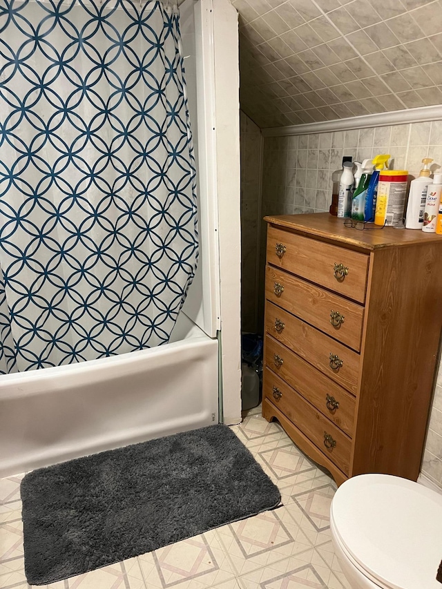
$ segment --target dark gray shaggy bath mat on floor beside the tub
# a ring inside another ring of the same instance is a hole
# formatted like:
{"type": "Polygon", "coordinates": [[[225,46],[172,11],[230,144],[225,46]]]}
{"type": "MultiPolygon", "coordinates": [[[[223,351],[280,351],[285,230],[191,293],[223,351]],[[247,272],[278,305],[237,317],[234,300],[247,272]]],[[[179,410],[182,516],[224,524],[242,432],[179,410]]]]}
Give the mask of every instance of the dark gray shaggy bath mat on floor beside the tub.
{"type": "Polygon", "coordinates": [[[35,470],[21,499],[26,577],[47,585],[275,508],[280,493],[212,425],[35,470]]]}

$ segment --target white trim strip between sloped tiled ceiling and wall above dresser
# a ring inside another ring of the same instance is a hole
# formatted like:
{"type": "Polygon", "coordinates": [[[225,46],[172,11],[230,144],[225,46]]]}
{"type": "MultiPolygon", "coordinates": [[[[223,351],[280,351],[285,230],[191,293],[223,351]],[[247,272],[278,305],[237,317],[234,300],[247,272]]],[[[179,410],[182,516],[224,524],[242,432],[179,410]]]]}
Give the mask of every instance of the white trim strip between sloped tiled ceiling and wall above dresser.
{"type": "Polygon", "coordinates": [[[271,127],[261,129],[261,133],[264,137],[282,137],[286,135],[309,135],[310,133],[329,133],[330,131],[347,131],[348,129],[385,127],[439,120],[442,120],[442,105],[407,108],[407,110],[394,110],[391,113],[378,113],[377,115],[364,115],[362,117],[321,121],[319,123],[271,127]]]}

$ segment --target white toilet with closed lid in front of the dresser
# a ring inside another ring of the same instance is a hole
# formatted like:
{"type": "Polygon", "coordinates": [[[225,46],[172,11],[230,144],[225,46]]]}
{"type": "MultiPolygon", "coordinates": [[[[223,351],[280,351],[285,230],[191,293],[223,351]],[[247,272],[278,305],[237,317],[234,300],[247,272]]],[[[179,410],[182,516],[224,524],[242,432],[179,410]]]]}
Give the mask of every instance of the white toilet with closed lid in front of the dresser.
{"type": "Polygon", "coordinates": [[[398,476],[354,476],[334,495],[330,529],[352,589],[442,589],[442,494],[398,476]]]}

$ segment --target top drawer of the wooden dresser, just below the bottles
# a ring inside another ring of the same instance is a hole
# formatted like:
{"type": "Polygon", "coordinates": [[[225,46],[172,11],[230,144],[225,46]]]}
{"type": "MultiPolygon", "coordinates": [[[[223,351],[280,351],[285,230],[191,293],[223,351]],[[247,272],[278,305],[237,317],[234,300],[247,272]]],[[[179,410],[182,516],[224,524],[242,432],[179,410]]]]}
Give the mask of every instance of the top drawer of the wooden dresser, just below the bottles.
{"type": "Polygon", "coordinates": [[[327,289],[365,301],[369,256],[269,226],[267,262],[327,289]]]}

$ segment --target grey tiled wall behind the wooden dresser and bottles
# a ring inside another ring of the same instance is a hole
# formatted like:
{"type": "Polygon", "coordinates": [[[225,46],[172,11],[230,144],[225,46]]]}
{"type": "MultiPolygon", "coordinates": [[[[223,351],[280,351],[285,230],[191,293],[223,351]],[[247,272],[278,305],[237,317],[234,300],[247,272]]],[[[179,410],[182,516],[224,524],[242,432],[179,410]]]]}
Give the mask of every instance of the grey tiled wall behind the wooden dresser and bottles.
{"type": "MultiPolygon", "coordinates": [[[[432,171],[442,173],[442,121],[334,133],[265,137],[262,171],[262,215],[328,211],[332,199],[331,175],[343,155],[361,162],[378,153],[390,153],[396,170],[416,177],[423,157],[432,157],[432,171]]],[[[260,238],[258,329],[264,316],[265,233],[260,238]]],[[[442,269],[441,269],[442,271],[442,269]]],[[[442,293],[441,293],[442,305],[442,293]]],[[[421,472],[442,488],[442,362],[434,392],[432,413],[421,472]]]]}

